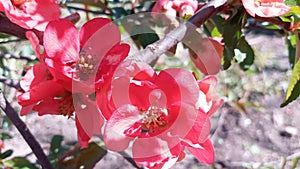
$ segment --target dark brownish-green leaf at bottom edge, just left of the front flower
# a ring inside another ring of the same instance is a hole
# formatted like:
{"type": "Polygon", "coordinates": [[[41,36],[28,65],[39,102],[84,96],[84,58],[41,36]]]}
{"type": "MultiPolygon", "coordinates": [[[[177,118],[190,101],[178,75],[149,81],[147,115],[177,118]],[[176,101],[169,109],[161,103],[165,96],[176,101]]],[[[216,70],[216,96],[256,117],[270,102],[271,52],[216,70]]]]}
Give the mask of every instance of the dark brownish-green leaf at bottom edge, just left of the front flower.
{"type": "Polygon", "coordinates": [[[77,159],[76,168],[93,168],[106,153],[107,151],[105,149],[92,142],[88,148],[81,150],[77,159]]]}

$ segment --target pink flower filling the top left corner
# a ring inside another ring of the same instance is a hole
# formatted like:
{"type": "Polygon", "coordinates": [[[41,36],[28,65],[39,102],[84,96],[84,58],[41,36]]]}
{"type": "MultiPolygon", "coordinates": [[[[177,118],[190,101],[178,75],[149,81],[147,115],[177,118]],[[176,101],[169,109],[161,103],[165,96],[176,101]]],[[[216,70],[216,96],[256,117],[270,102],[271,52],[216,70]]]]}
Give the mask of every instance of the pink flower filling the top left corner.
{"type": "Polygon", "coordinates": [[[60,15],[55,0],[1,0],[0,11],[19,26],[40,31],[44,31],[48,22],[60,15]]]}

